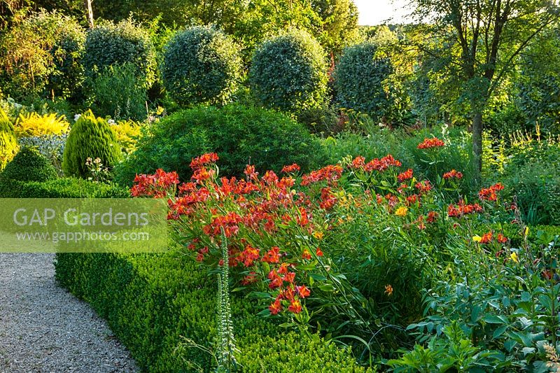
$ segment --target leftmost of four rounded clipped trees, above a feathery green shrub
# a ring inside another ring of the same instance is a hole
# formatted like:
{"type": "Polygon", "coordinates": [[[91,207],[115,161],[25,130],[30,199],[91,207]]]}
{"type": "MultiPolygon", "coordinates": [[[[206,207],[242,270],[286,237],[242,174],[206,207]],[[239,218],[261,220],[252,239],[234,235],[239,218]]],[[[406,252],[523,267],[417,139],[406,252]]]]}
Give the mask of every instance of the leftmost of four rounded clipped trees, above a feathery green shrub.
{"type": "Polygon", "coordinates": [[[155,52],[147,31],[129,19],[104,22],[87,32],[82,60],[87,76],[94,78],[108,66],[127,62],[137,67],[146,87],[153,83],[155,52]]]}

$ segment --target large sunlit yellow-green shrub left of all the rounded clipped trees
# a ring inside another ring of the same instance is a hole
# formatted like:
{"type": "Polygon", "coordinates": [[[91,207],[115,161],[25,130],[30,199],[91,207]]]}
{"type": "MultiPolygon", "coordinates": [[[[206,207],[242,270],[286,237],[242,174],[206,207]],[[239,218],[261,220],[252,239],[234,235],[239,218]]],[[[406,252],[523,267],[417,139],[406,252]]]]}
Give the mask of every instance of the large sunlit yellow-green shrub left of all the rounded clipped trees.
{"type": "Polygon", "coordinates": [[[8,80],[3,91],[17,99],[70,97],[83,82],[84,41],[85,32],[73,18],[32,13],[1,38],[0,71],[8,80]]]}

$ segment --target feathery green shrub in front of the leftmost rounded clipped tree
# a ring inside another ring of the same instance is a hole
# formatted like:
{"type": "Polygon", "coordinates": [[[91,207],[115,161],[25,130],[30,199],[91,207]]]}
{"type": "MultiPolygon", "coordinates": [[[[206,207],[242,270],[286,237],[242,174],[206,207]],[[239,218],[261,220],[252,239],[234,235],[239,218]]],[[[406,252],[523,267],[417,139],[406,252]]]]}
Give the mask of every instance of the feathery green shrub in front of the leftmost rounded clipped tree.
{"type": "Polygon", "coordinates": [[[95,113],[116,119],[144,120],[146,88],[137,79],[137,68],[130,62],[111,65],[90,82],[91,108],[95,113]]]}

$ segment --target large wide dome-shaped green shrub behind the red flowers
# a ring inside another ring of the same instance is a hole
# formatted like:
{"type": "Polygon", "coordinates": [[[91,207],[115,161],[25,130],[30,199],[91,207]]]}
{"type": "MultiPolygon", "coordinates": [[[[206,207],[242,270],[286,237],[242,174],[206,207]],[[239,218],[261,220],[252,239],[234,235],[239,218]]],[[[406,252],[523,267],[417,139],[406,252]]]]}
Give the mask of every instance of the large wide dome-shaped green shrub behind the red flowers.
{"type": "Polygon", "coordinates": [[[188,180],[190,160],[211,151],[220,156],[223,175],[243,176],[249,163],[260,171],[280,171],[293,162],[309,170],[321,159],[318,140],[286,115],[237,104],[197,107],[152,125],[137,150],[116,168],[116,180],[130,185],[135,174],[158,168],[188,180]]]}

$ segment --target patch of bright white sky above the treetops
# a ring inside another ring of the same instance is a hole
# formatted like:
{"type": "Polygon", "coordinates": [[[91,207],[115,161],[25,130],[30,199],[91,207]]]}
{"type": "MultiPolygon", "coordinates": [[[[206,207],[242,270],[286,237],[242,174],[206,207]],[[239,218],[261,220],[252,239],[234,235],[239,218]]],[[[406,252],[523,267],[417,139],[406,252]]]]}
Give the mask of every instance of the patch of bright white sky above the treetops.
{"type": "Polygon", "coordinates": [[[408,0],[354,0],[360,13],[358,24],[381,24],[391,17],[393,23],[404,22],[405,15],[410,13],[404,8],[408,2],[408,0]]]}

